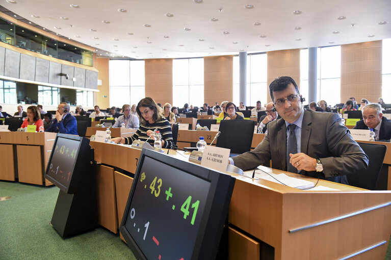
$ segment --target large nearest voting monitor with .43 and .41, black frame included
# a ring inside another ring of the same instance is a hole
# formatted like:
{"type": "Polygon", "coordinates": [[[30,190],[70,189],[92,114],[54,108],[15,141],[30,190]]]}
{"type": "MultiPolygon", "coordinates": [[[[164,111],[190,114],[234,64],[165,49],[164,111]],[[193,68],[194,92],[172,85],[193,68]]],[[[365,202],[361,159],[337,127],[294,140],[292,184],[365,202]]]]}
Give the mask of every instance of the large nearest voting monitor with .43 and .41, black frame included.
{"type": "MultiPolygon", "coordinates": [[[[125,230],[122,235],[127,243],[128,241],[132,243],[129,247],[136,249],[132,250],[136,257],[199,259],[202,241],[207,237],[208,232],[214,235],[206,239],[216,237],[217,233],[217,230],[205,230],[207,222],[210,221],[210,214],[215,210],[218,211],[216,214],[220,213],[219,220],[215,218],[212,220],[216,222],[212,229],[218,229],[220,222],[226,218],[229,203],[226,204],[225,215],[224,210],[220,209],[221,206],[212,209],[214,194],[218,192],[216,189],[218,178],[209,180],[208,174],[203,177],[195,175],[193,171],[197,172],[197,169],[201,168],[199,165],[180,161],[187,167],[180,165],[178,167],[177,159],[173,161],[174,164],[171,164],[164,158],[157,160],[155,157],[163,156],[173,160],[172,157],[154,151],[148,153],[152,153],[153,157],[144,155],[140,158],[140,165],[121,223],[125,230]],[[220,218],[223,220],[221,221],[220,218]],[[136,251],[140,255],[137,255],[136,251]]],[[[220,175],[218,172],[214,173],[216,177],[220,175]]],[[[233,179],[230,176],[224,177],[228,180],[226,182],[228,186],[234,182],[234,180],[230,182],[233,179]]],[[[233,184],[231,186],[233,188],[233,184]]],[[[232,190],[223,193],[227,193],[230,199],[232,190]]],[[[223,197],[226,197],[226,194],[223,197]]],[[[224,198],[220,202],[224,205],[224,198]]],[[[220,236],[221,233],[219,239],[220,236]]],[[[213,242],[208,242],[211,243],[213,242]]],[[[211,254],[214,253],[210,252],[207,255],[211,254]]]]}

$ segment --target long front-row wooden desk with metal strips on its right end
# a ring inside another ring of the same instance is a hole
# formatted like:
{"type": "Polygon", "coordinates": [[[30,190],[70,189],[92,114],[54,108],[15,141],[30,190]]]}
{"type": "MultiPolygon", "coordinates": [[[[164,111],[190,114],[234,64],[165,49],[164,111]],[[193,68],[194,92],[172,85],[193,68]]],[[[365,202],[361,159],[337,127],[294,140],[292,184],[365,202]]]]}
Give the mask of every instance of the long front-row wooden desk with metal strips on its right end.
{"type": "MultiPolygon", "coordinates": [[[[97,162],[99,224],[118,233],[141,150],[90,144],[97,162]]],[[[164,151],[188,161],[188,152],[164,151]]],[[[263,170],[317,182],[268,167],[263,170]]],[[[391,191],[324,180],[319,180],[319,190],[300,190],[260,179],[258,174],[252,179],[252,171],[225,174],[236,178],[228,212],[229,259],[335,259],[361,250],[357,259],[384,258],[391,234],[391,191]]]]}

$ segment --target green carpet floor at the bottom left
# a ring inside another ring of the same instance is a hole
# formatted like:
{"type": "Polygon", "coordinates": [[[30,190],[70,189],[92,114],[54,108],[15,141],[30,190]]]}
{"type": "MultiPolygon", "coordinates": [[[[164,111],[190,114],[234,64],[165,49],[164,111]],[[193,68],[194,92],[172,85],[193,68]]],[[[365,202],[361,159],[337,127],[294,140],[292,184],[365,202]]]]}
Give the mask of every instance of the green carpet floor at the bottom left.
{"type": "MultiPolygon", "coordinates": [[[[119,238],[105,228],[61,238],[49,224],[59,193],[57,187],[38,187],[0,181],[0,259],[136,259],[119,238]]],[[[391,240],[386,260],[391,260],[391,240]]]]}

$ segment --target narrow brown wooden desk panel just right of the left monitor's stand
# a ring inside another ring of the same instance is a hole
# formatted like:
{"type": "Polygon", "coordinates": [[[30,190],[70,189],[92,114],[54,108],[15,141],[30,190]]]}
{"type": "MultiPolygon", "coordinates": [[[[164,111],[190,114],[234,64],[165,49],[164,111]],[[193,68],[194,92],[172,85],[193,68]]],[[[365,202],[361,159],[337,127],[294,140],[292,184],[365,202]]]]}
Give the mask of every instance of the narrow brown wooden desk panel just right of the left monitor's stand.
{"type": "Polygon", "coordinates": [[[118,218],[114,168],[105,165],[96,166],[96,197],[98,204],[98,224],[117,234],[118,218]]]}

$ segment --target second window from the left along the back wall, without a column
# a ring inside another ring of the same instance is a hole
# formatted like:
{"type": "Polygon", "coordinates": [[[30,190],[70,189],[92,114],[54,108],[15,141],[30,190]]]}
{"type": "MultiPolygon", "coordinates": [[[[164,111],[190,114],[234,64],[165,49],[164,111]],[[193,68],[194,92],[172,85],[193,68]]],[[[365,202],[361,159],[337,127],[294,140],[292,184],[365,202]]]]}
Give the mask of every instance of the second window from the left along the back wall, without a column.
{"type": "Polygon", "coordinates": [[[202,107],[203,96],[203,58],[176,59],[172,61],[172,105],[183,107],[202,107]]]}

